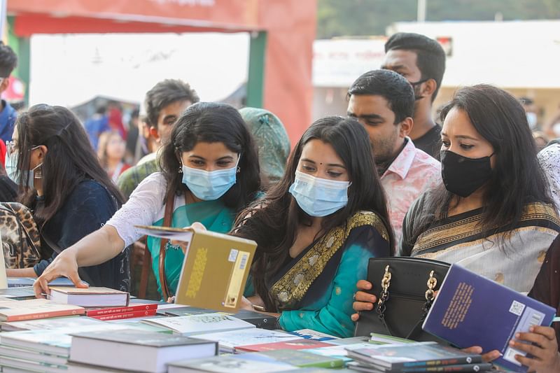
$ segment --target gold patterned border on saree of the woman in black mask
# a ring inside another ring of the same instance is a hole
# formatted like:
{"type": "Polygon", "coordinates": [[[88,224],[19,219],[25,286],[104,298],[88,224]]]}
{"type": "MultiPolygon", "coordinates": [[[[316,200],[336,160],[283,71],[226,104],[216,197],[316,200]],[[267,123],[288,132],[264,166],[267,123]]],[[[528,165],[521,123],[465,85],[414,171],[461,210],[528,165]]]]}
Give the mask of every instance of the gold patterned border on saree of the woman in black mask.
{"type": "MultiPolygon", "coordinates": [[[[452,242],[461,241],[468,237],[475,237],[482,233],[482,227],[479,222],[482,214],[470,216],[468,218],[458,220],[454,223],[441,225],[432,228],[422,233],[416,240],[414,248],[412,248],[412,255],[430,250],[437,246],[451,244],[452,242]]],[[[525,212],[519,223],[528,222],[530,220],[548,220],[555,225],[560,226],[560,220],[556,216],[556,211],[552,206],[542,203],[531,203],[525,206],[525,212]]],[[[495,226],[492,230],[497,229],[495,226]]],[[[472,242],[472,241],[471,241],[472,242]]],[[[461,242],[460,244],[465,244],[461,242]]],[[[457,244],[457,245],[460,245],[457,244]]],[[[420,255],[426,255],[424,253],[420,255]]]]}

